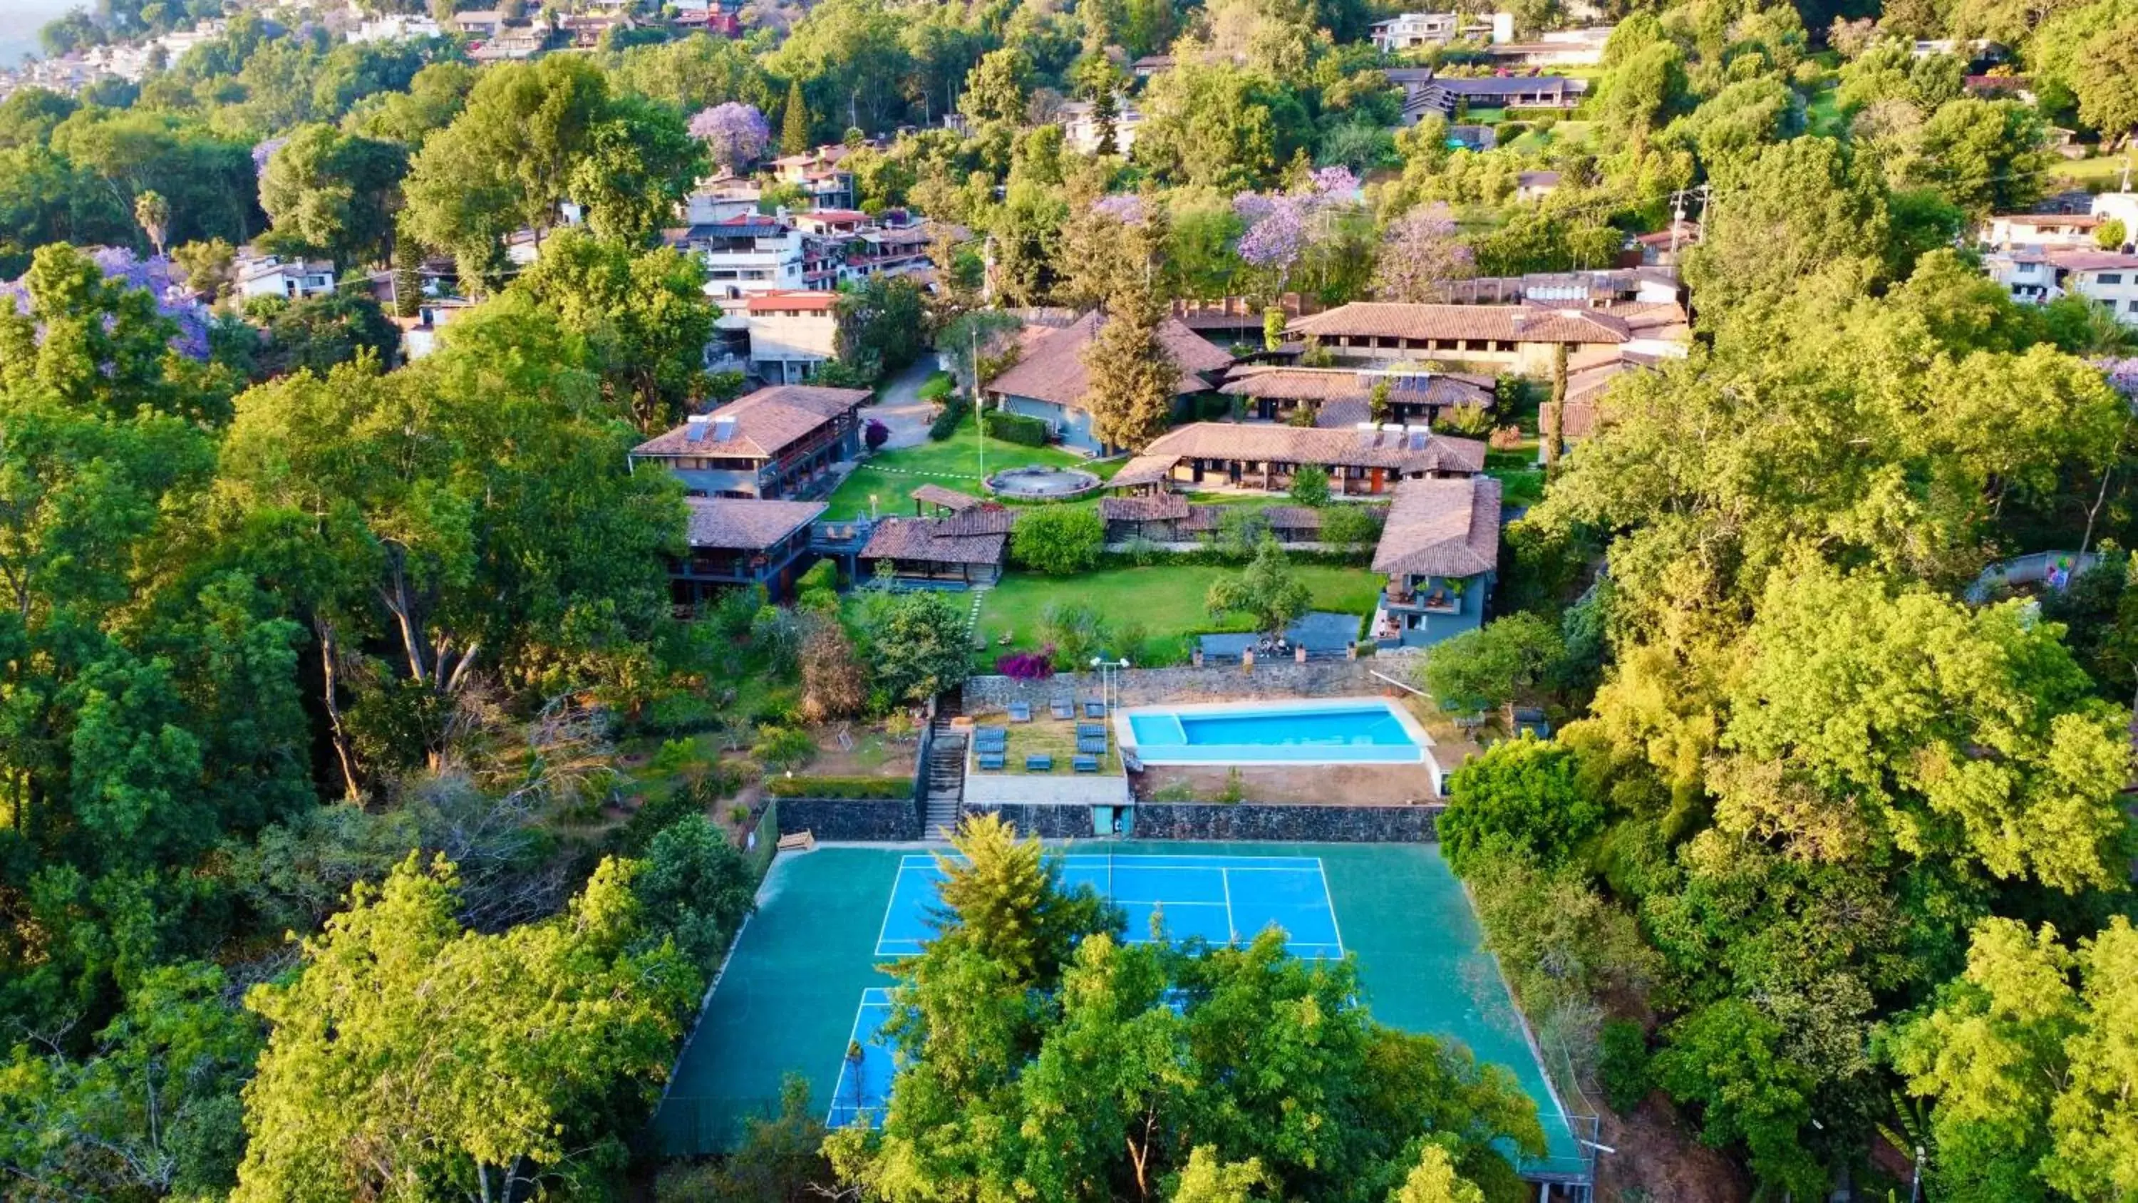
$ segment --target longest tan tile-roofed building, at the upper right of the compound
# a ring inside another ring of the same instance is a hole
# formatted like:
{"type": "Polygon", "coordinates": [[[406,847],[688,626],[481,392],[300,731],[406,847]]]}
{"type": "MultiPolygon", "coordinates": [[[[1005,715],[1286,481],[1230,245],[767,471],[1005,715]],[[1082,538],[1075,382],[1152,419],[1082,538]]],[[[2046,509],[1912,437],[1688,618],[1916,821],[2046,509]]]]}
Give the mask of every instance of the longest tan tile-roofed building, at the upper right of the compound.
{"type": "MultiPolygon", "coordinates": [[[[1541,376],[1561,346],[1618,346],[1640,340],[1633,321],[1685,323],[1685,310],[1621,306],[1614,310],[1552,306],[1420,306],[1351,301],[1291,323],[1287,338],[1319,340],[1336,359],[1364,365],[1417,361],[1471,363],[1541,376]]],[[[1655,331],[1670,338],[1676,327],[1655,331]]]]}

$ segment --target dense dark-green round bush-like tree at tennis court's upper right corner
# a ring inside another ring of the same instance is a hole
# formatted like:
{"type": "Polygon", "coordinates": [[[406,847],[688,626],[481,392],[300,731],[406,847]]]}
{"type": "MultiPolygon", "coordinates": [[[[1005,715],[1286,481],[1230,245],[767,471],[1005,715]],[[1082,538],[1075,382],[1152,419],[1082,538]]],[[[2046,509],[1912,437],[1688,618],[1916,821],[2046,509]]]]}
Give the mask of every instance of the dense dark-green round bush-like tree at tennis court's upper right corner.
{"type": "Polygon", "coordinates": [[[1486,855],[1520,855],[1550,870],[1604,827],[1604,808],[1576,782],[1574,752],[1541,739],[1494,744],[1456,769],[1439,821],[1447,865],[1469,876],[1486,855]]]}

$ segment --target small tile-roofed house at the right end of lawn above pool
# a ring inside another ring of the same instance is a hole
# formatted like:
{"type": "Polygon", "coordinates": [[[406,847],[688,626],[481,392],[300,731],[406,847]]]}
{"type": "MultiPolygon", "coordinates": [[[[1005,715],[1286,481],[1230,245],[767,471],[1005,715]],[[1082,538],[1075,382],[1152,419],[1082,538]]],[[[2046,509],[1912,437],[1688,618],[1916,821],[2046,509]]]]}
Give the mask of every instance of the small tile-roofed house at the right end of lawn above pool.
{"type": "Polygon", "coordinates": [[[1383,647],[1426,647],[1484,622],[1499,573],[1499,481],[1405,481],[1373,571],[1388,588],[1373,613],[1383,647]]]}

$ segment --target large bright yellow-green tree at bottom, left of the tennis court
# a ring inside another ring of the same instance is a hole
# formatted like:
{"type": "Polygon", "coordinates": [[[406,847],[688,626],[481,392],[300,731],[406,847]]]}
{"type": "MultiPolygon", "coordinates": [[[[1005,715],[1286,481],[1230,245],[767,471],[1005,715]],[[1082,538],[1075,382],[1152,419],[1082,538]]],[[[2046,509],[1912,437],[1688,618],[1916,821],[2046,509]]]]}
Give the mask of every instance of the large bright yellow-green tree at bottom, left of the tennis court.
{"type": "Polygon", "coordinates": [[[601,1115],[648,1107],[701,979],[631,951],[633,865],[603,861],[567,915],[498,936],[453,917],[458,874],[410,855],[304,942],[246,1006],[269,1024],[246,1088],[235,1201],[590,1182],[624,1156],[601,1115]]]}

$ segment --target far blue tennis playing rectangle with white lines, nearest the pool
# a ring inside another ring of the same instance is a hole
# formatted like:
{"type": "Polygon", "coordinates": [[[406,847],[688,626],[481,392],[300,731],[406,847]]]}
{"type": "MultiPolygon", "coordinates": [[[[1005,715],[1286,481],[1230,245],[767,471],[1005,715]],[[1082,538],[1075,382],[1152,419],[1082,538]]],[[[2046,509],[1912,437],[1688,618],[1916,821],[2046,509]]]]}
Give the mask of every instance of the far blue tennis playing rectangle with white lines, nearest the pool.
{"type": "MultiPolygon", "coordinates": [[[[934,936],[930,915],[943,870],[932,855],[898,863],[898,882],[877,934],[879,957],[919,955],[934,936]]],[[[1063,882],[1088,885],[1129,915],[1127,940],[1204,938],[1246,942],[1268,927],[1304,959],[1341,957],[1343,934],[1330,906],[1321,857],[1063,857],[1063,882]]]]}

